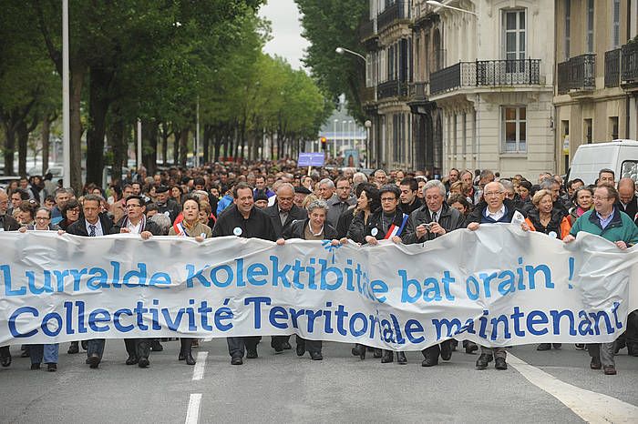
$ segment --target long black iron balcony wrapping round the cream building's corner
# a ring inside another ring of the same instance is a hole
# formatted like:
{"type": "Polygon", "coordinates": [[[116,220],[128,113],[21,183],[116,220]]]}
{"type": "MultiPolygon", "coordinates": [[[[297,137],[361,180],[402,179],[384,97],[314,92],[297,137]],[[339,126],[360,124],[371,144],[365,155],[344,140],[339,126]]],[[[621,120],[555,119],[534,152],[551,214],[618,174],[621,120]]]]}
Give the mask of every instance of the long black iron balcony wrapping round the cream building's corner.
{"type": "Polygon", "coordinates": [[[430,76],[430,95],[461,87],[538,86],[540,59],[477,60],[459,62],[430,76]]]}

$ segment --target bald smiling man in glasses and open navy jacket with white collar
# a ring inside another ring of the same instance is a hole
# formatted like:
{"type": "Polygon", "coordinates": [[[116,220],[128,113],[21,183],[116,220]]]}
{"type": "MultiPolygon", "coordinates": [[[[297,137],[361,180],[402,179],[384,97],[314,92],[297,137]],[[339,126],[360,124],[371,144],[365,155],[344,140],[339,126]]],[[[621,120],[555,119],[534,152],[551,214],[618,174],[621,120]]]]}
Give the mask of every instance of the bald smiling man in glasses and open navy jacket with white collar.
{"type": "MultiPolygon", "coordinates": [[[[483,199],[468,216],[466,226],[472,231],[476,231],[483,224],[498,224],[511,222],[516,207],[514,202],[505,198],[505,187],[499,182],[488,183],[483,189],[483,199]]],[[[489,362],[493,358],[494,368],[507,369],[505,362],[507,353],[505,348],[485,348],[480,347],[480,356],[477,359],[477,369],[488,368],[489,362]]]]}

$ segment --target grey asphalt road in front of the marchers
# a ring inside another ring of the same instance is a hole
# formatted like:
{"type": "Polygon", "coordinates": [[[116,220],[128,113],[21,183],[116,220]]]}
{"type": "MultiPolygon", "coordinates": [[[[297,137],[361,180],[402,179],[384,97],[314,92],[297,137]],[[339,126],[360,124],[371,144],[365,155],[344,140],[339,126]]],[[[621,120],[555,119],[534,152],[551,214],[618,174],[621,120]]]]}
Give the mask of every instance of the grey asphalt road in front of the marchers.
{"type": "Polygon", "coordinates": [[[177,360],[178,342],[163,345],[141,369],[124,364],[123,341],[108,340],[94,370],[65,343],[56,373],[30,370],[13,347],[13,364],[0,369],[0,422],[638,422],[638,358],[626,350],[616,357],[619,374],[604,376],[573,345],[508,349],[504,371],[493,362],[478,371],[477,355],[462,351],[433,368],[421,367],[417,352],[406,366],[362,361],[337,343],[312,361],[274,355],[269,338],[243,366],[230,365],[224,339],[203,342],[190,367],[177,360]]]}

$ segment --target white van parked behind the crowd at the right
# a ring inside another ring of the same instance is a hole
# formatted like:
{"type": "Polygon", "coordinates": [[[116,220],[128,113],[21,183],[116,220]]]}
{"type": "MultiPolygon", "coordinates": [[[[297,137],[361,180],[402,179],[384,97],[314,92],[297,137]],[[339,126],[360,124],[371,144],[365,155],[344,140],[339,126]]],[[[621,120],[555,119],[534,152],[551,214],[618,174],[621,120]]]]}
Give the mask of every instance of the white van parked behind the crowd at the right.
{"type": "Polygon", "coordinates": [[[638,141],[613,140],[579,146],[571,160],[567,181],[581,178],[586,185],[594,184],[602,168],[612,169],[616,181],[623,177],[638,180],[638,141]]]}

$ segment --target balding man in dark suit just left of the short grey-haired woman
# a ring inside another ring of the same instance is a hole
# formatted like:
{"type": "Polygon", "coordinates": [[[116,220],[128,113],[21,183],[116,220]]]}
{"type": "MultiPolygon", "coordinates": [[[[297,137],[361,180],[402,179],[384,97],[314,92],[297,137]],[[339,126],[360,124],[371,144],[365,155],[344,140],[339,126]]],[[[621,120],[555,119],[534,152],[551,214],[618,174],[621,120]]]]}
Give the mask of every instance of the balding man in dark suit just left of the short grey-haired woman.
{"type": "MultiPolygon", "coordinates": [[[[276,202],[272,207],[266,207],[264,212],[273,221],[274,232],[277,237],[283,237],[283,232],[289,230],[294,221],[304,221],[308,217],[305,209],[297,207],[294,200],[294,187],[290,183],[283,183],[277,188],[276,202]]],[[[290,336],[273,336],[271,348],[281,353],[283,349],[290,349],[290,336]]]]}

